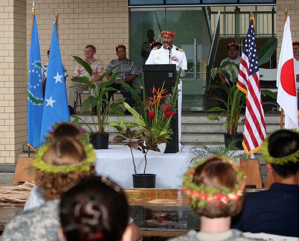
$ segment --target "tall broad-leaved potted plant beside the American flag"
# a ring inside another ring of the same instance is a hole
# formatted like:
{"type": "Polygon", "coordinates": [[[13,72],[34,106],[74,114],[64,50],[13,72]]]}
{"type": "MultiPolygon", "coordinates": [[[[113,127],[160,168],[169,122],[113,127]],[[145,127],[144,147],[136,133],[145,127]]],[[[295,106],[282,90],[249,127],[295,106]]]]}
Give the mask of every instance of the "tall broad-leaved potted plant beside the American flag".
{"type": "MultiPolygon", "coordinates": [[[[269,61],[272,54],[275,52],[277,48],[277,39],[270,39],[268,42],[266,42],[263,47],[257,52],[258,56],[258,64],[262,65],[269,61]]],[[[242,148],[242,139],[243,135],[242,133],[237,132],[238,125],[245,121],[245,119],[240,120],[240,113],[241,109],[245,107],[245,93],[243,93],[241,90],[237,88],[237,79],[238,75],[234,70],[233,65],[237,66],[239,69],[239,65],[228,61],[223,62],[222,66],[213,68],[211,70],[211,76],[213,79],[215,79],[218,72],[221,72],[226,79],[230,79],[232,76],[233,80],[233,86],[231,88],[227,87],[226,85],[219,82],[217,85],[206,85],[203,88],[222,88],[225,90],[225,92],[228,93],[228,100],[225,102],[222,99],[213,98],[222,101],[225,104],[225,107],[227,108],[222,109],[220,107],[213,107],[210,108],[208,111],[221,111],[221,117],[219,118],[216,115],[209,115],[207,116],[210,120],[217,120],[221,121],[223,119],[222,124],[227,129],[227,134],[224,134],[224,142],[225,145],[228,145],[228,140],[232,139],[240,139],[239,144],[236,144],[239,146],[239,148],[242,148]],[[227,66],[229,67],[230,73],[223,70],[222,68],[227,66]]],[[[270,90],[261,90],[261,94],[264,96],[268,95],[272,97],[273,99],[277,99],[277,95],[273,93],[270,90]]]]}

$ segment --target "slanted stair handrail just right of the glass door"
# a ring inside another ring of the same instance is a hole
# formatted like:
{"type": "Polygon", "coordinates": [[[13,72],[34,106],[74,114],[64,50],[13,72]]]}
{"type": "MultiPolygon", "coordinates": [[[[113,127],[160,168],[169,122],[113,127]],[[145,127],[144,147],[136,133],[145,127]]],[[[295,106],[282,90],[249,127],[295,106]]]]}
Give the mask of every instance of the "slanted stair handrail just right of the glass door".
{"type": "MultiPolygon", "coordinates": [[[[208,85],[210,83],[211,70],[214,66],[216,51],[217,51],[218,42],[219,42],[219,39],[220,39],[219,19],[220,19],[220,12],[218,12],[218,17],[217,17],[217,20],[216,20],[216,23],[215,23],[215,30],[214,30],[212,44],[211,44],[210,53],[209,53],[208,62],[207,62],[206,85],[208,85]]],[[[206,90],[206,100],[208,100],[208,90],[206,90]]]]}

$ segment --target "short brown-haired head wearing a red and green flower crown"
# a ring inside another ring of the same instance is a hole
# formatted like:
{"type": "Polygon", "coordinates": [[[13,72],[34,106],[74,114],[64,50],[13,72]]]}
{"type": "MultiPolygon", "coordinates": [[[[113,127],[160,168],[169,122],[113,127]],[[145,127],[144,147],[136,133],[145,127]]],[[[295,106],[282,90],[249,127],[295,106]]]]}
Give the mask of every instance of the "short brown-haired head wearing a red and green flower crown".
{"type": "Polygon", "coordinates": [[[208,218],[231,217],[242,209],[245,178],[235,160],[212,157],[189,168],[182,190],[196,214],[208,218]]]}

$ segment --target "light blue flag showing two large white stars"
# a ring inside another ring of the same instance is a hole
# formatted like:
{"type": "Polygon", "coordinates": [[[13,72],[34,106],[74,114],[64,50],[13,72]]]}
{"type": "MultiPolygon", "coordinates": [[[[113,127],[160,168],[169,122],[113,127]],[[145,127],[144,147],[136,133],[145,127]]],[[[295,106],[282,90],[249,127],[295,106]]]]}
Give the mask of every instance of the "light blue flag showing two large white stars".
{"type": "Polygon", "coordinates": [[[55,125],[56,122],[65,122],[70,119],[55,22],[53,24],[50,49],[40,142],[45,141],[45,136],[51,130],[52,125],[55,125]]]}

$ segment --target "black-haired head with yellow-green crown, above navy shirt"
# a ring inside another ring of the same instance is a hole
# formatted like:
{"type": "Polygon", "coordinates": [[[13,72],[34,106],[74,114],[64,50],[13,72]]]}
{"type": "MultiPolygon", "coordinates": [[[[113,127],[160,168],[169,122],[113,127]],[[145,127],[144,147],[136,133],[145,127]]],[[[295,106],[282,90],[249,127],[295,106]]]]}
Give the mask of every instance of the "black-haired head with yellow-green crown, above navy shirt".
{"type": "Polygon", "coordinates": [[[272,133],[263,143],[263,156],[274,171],[287,178],[299,169],[299,134],[292,130],[279,130],[272,133]]]}

